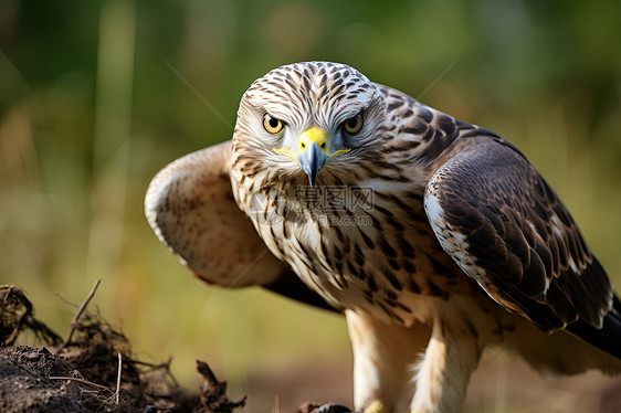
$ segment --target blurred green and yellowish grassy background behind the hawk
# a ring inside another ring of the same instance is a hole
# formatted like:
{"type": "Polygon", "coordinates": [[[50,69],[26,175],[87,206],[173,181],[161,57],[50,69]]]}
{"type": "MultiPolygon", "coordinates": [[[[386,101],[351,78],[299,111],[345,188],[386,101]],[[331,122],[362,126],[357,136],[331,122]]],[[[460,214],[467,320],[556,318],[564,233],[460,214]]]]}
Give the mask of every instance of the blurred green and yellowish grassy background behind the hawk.
{"type": "Polygon", "coordinates": [[[66,331],[54,294],[102,278],[95,303],[135,350],[173,356],[188,385],[207,360],[251,411],[278,405],[252,393],[266,371],[348,378],[339,317],[200,284],[143,214],[161,167],[231,137],[253,80],[328,60],[517,145],[621,285],[620,22],[614,0],[0,0],[0,283],[66,331]]]}

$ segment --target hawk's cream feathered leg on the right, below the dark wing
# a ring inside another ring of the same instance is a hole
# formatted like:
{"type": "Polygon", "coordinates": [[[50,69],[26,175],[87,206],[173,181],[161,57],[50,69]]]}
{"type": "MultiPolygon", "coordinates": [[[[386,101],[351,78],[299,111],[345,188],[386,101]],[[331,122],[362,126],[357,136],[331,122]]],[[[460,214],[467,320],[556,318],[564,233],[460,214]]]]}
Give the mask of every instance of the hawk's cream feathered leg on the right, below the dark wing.
{"type": "Polygon", "coordinates": [[[467,320],[435,319],[415,375],[412,413],[454,413],[460,410],[470,375],[481,358],[476,336],[467,320]]]}

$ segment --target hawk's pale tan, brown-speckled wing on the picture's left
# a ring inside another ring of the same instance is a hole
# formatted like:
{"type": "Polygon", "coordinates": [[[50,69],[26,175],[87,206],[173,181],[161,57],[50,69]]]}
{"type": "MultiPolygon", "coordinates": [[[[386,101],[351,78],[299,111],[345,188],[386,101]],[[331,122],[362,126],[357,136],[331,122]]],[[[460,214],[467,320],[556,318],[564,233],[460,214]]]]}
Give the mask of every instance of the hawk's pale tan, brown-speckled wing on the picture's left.
{"type": "Polygon", "coordinates": [[[186,155],[159,171],[145,199],[158,239],[197,277],[222,287],[260,285],[331,309],[267,250],[233,199],[231,141],[186,155]]]}

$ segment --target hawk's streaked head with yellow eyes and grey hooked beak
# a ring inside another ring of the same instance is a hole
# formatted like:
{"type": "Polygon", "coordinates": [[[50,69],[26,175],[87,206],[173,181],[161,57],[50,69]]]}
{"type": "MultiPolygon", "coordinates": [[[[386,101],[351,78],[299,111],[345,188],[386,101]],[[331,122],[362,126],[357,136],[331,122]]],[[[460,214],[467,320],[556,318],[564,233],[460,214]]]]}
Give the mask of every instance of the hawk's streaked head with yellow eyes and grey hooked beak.
{"type": "Polygon", "coordinates": [[[328,62],[275,68],[244,93],[233,137],[235,166],[250,174],[347,173],[383,127],[386,100],[355,68],[328,62]]]}

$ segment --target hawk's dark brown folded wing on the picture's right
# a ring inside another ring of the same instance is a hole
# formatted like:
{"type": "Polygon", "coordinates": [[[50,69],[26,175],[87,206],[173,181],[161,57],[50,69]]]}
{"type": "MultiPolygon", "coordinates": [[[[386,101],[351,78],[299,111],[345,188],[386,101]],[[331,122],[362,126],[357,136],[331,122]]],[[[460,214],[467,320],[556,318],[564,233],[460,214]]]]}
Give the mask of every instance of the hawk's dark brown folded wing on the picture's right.
{"type": "Polygon", "coordinates": [[[613,336],[620,347],[612,285],[544,178],[495,136],[455,145],[425,190],[444,250],[492,298],[539,328],[567,327],[596,345],[613,336]]]}

